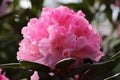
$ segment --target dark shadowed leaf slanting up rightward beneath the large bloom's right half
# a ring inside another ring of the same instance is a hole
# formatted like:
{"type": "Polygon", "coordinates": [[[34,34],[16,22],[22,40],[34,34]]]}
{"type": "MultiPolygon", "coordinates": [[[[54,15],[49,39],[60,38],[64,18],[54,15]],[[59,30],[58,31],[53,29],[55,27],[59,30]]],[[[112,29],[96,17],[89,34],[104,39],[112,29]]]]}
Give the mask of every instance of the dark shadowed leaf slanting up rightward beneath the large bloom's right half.
{"type": "Polygon", "coordinates": [[[85,72],[86,70],[88,70],[90,68],[90,66],[91,66],[91,64],[86,63],[86,64],[81,65],[78,68],[74,68],[68,73],[67,77],[73,77],[75,74],[81,74],[81,73],[85,72]]]}

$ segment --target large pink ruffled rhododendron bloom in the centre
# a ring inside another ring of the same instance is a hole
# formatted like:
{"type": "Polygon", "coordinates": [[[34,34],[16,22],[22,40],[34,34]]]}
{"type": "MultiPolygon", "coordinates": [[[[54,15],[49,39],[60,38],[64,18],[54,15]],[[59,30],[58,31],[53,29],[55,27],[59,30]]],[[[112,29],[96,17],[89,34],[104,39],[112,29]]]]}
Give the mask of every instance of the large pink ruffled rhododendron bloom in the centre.
{"type": "Polygon", "coordinates": [[[99,61],[104,55],[100,51],[99,34],[85,19],[67,7],[43,8],[39,19],[32,18],[22,29],[17,59],[38,62],[54,68],[61,59],[74,57],[99,61]]]}

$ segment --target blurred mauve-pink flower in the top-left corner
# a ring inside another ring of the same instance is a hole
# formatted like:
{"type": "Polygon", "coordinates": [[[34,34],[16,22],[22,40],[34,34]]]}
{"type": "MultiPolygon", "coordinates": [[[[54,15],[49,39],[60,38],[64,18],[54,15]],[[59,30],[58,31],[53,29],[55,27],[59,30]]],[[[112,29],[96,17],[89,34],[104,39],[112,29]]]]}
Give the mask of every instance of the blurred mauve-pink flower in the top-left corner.
{"type": "Polygon", "coordinates": [[[7,13],[7,6],[8,6],[8,2],[10,0],[2,0],[2,3],[0,4],[0,17],[5,15],[7,13]]]}

